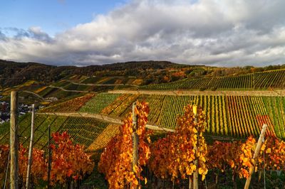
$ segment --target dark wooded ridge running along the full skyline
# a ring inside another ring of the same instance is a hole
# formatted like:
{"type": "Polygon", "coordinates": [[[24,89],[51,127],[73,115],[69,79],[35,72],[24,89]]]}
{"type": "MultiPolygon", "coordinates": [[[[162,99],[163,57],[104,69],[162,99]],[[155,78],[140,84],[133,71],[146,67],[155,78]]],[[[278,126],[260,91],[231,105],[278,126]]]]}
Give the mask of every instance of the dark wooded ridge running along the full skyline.
{"type": "MultiPolygon", "coordinates": [[[[204,65],[180,65],[167,61],[138,61],[113,63],[108,65],[52,66],[41,63],[16,63],[0,60],[0,90],[1,87],[14,87],[28,80],[35,80],[44,85],[50,85],[66,78],[82,77],[134,77],[142,80],[140,85],[175,82],[183,79],[208,79],[209,77],[224,77],[246,75],[253,72],[284,69],[285,65],[270,65],[265,68],[216,68],[204,65]],[[76,75],[76,77],[74,77],[76,75]]],[[[86,80],[85,83],[93,82],[86,80]]]]}

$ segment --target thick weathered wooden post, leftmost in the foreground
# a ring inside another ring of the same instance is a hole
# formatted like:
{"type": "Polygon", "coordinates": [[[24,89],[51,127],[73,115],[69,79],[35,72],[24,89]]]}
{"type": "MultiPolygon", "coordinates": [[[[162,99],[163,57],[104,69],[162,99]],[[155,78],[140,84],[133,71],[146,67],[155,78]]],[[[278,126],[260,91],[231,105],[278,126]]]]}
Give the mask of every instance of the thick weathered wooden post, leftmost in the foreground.
{"type": "Polygon", "coordinates": [[[11,92],[10,112],[10,188],[19,188],[19,136],[18,136],[18,92],[11,92]]]}

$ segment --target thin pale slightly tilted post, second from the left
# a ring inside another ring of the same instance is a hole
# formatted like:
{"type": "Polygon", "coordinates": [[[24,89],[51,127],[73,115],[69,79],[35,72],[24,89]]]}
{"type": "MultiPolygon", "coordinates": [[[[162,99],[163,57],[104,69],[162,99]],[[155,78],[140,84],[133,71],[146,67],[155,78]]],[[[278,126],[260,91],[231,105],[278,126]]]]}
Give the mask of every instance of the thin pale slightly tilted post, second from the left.
{"type": "Polygon", "coordinates": [[[28,148],[28,168],[27,168],[27,177],[26,177],[26,189],[29,188],[30,185],[30,178],[31,178],[31,165],[32,165],[32,159],[33,159],[33,133],[35,131],[34,129],[34,122],[35,120],[35,104],[31,105],[31,141],[30,141],[30,147],[28,148]]]}

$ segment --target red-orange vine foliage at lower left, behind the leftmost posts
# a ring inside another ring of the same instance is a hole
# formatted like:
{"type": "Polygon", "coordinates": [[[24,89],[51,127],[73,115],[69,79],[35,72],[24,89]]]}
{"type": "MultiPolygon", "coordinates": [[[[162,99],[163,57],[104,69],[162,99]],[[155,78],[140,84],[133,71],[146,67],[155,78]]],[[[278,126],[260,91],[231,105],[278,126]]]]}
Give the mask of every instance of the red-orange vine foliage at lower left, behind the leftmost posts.
{"type": "MultiPolygon", "coordinates": [[[[91,173],[94,168],[90,156],[84,152],[83,146],[73,144],[66,132],[53,135],[51,163],[51,185],[66,185],[71,180],[82,180],[83,176],[91,173]]],[[[0,146],[0,184],[4,184],[4,176],[8,162],[9,146],[0,146]]],[[[39,180],[48,180],[48,161],[44,151],[33,148],[31,166],[31,182],[37,184],[39,180]]],[[[28,167],[28,148],[20,144],[19,148],[19,185],[26,184],[28,167]]]]}

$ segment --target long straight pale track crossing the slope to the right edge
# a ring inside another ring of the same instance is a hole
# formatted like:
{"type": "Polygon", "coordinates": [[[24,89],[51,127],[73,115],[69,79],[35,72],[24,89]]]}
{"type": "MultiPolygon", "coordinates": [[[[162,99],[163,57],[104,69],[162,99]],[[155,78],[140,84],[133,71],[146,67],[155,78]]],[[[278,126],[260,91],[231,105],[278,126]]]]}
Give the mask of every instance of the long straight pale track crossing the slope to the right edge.
{"type": "Polygon", "coordinates": [[[285,97],[285,90],[259,90],[259,91],[152,91],[152,90],[111,90],[109,93],[127,93],[139,95],[227,95],[227,96],[268,96],[285,97]]]}

